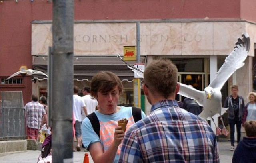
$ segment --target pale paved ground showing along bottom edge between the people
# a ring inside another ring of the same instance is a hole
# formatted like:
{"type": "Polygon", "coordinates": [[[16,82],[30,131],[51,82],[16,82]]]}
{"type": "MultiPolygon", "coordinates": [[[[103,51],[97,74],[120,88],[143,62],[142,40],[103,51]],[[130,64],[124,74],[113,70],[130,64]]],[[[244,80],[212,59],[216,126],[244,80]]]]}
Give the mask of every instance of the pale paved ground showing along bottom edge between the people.
{"type": "MultiPolygon", "coordinates": [[[[220,163],[232,163],[233,152],[229,151],[230,142],[224,141],[219,142],[219,154],[220,154],[220,163]]],[[[84,160],[84,151],[74,152],[73,153],[73,162],[82,163],[84,160]]],[[[0,163],[36,163],[40,151],[24,151],[19,153],[7,153],[0,155],[0,163]]],[[[89,154],[89,153],[88,153],[89,154]]],[[[92,158],[89,154],[90,163],[93,163],[92,158]]]]}

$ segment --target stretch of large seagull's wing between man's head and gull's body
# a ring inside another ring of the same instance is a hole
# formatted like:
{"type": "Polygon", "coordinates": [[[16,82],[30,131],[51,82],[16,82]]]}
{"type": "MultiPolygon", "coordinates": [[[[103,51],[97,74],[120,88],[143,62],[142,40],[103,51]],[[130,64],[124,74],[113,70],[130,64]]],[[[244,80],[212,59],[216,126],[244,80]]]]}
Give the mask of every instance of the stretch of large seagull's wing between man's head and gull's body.
{"type": "Polygon", "coordinates": [[[194,99],[200,106],[203,106],[204,97],[205,97],[204,91],[197,90],[186,84],[182,84],[182,83],[179,83],[179,84],[180,84],[180,90],[178,94],[184,97],[194,99]]]}

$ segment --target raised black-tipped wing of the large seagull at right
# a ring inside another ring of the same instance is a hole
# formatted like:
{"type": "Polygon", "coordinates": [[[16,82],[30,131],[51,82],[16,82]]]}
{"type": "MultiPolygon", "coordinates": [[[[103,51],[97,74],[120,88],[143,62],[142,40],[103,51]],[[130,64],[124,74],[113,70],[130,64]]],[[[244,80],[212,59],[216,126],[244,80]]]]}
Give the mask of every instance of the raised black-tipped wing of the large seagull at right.
{"type": "Polygon", "coordinates": [[[250,49],[250,38],[247,33],[242,35],[242,39],[238,38],[234,50],[226,57],[225,62],[220,67],[215,79],[209,84],[212,88],[221,89],[228,78],[239,68],[244,65],[250,49]]]}

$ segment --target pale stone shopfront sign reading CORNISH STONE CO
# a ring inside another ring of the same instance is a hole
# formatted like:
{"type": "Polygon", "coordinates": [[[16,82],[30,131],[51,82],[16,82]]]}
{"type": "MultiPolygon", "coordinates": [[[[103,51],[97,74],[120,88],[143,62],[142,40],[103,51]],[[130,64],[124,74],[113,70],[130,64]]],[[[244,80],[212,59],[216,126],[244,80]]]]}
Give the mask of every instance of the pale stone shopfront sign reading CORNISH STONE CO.
{"type": "MultiPolygon", "coordinates": [[[[51,23],[32,23],[32,55],[48,55],[48,47],[52,46],[51,26],[51,23]]],[[[227,55],[236,40],[229,29],[233,33],[242,32],[239,28],[234,31],[234,26],[242,24],[143,22],[140,55],[227,55]]],[[[74,55],[122,55],[123,47],[130,45],[136,45],[136,23],[74,24],[74,55]]]]}

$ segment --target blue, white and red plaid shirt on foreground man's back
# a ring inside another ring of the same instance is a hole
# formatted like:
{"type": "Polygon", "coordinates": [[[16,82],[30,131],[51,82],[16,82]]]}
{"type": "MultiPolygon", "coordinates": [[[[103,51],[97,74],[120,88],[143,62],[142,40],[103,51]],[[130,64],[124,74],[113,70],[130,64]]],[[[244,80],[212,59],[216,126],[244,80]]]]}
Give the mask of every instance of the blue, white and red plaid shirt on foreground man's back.
{"type": "Polygon", "coordinates": [[[162,100],[124,136],[119,163],[219,163],[216,135],[206,120],[162,100]]]}

